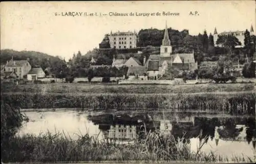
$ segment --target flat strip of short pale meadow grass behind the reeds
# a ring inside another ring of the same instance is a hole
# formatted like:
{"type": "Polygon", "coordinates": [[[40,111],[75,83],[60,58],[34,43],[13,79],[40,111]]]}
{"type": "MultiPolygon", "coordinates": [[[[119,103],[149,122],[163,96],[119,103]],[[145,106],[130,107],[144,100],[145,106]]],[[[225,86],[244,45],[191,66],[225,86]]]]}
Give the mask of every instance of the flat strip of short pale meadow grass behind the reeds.
{"type": "Polygon", "coordinates": [[[198,85],[99,85],[99,84],[30,84],[3,85],[3,93],[119,93],[119,94],[170,94],[204,92],[241,92],[252,91],[254,84],[198,84],[198,85]]]}

